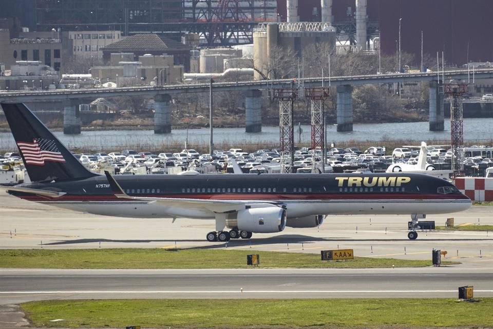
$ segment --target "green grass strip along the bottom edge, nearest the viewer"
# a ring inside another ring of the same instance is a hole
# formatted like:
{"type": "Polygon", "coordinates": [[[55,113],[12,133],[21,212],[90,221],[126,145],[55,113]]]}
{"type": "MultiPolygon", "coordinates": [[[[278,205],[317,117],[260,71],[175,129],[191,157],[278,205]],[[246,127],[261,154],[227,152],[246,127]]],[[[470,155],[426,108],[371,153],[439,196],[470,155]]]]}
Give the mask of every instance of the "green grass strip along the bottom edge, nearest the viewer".
{"type": "Polygon", "coordinates": [[[493,298],[77,300],[22,304],[35,327],[492,327],[493,298]],[[50,322],[63,319],[59,322],[50,322]]]}

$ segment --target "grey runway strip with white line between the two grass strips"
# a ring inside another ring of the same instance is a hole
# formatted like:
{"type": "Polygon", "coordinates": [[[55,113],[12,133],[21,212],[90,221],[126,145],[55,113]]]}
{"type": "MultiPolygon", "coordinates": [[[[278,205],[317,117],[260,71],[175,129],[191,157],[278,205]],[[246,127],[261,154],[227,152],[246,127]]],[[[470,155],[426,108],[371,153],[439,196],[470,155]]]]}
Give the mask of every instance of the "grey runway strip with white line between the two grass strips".
{"type": "Polygon", "coordinates": [[[2,304],[115,298],[457,298],[474,286],[493,297],[493,273],[414,269],[3,270],[2,304]]]}

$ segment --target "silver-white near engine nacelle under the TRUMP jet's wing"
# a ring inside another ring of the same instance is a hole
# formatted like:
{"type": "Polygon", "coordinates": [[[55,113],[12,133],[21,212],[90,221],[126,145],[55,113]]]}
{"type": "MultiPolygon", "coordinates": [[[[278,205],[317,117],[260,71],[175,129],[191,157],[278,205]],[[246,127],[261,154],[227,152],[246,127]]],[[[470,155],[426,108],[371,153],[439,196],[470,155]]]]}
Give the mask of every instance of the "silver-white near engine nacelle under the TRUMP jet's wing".
{"type": "Polygon", "coordinates": [[[226,226],[252,233],[281,232],[286,228],[286,209],[263,207],[240,210],[227,216],[226,226]]]}

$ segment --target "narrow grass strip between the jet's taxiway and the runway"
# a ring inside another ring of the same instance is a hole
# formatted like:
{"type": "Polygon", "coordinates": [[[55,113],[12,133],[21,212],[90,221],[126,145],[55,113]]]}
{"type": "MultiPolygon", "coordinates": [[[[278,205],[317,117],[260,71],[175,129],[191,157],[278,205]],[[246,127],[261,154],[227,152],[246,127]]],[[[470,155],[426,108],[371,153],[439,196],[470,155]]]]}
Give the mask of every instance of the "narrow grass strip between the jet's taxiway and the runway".
{"type": "MultiPolygon", "coordinates": [[[[160,268],[248,268],[247,255],[259,254],[263,268],[377,268],[424,267],[429,260],[400,260],[355,257],[354,260],[327,262],[320,254],[255,250],[202,249],[4,249],[2,268],[61,269],[160,269],[160,268]]],[[[442,262],[443,265],[460,264],[442,262]]]]}

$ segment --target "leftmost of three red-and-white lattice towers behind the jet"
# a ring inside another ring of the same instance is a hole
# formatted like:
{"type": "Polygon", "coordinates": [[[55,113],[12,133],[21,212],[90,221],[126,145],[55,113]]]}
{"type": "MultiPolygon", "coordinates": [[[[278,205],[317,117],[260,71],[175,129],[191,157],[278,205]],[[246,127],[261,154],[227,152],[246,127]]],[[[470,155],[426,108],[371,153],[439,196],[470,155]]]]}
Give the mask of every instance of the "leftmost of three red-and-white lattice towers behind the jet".
{"type": "Polygon", "coordinates": [[[274,89],[274,99],[279,100],[279,152],[281,173],[291,173],[294,161],[294,100],[298,90],[294,88],[274,89]]]}

